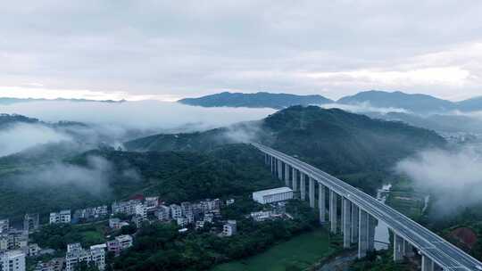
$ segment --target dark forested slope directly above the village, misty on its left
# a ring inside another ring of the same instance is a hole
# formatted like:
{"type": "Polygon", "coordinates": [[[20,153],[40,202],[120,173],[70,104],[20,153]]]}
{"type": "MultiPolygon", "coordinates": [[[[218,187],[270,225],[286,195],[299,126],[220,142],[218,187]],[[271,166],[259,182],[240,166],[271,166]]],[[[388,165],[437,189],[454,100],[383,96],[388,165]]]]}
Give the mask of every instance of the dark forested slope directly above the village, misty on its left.
{"type": "MultiPolygon", "coordinates": [[[[16,161],[13,162],[13,166],[16,161]]],[[[276,187],[261,155],[245,144],[211,152],[94,150],[63,162],[0,171],[0,218],[79,209],[160,195],[169,202],[229,197],[276,187]]]]}

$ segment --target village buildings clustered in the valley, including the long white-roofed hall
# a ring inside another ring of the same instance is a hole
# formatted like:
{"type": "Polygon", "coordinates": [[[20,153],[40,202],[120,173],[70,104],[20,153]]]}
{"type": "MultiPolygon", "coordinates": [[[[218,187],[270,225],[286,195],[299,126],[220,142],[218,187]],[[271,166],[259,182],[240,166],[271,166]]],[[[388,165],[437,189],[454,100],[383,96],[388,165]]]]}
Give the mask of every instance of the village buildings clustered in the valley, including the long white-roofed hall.
{"type": "MultiPolygon", "coordinates": [[[[277,188],[253,193],[253,201],[270,205],[270,209],[252,212],[247,218],[262,222],[275,218],[287,218],[285,201],[293,198],[293,192],[286,188],[277,188]]],[[[134,224],[137,228],[144,223],[160,221],[176,223],[179,233],[189,229],[201,230],[206,225],[212,233],[219,236],[232,236],[237,234],[237,221],[224,220],[220,214],[222,205],[230,205],[234,199],[220,201],[220,199],[205,199],[202,201],[184,201],[180,204],[161,201],[159,197],[138,196],[128,201],[114,201],[111,210],[107,205],[87,209],[63,209],[51,212],[49,224],[78,224],[93,221],[108,220],[112,231],[120,230],[123,226],[134,224]],[[216,232],[217,230],[217,232],[216,232]],[[213,232],[214,231],[214,232],[213,232]]],[[[15,229],[10,225],[9,219],[0,219],[0,271],[26,270],[26,257],[37,257],[44,254],[54,254],[54,250],[42,249],[37,243],[29,243],[29,234],[37,231],[40,226],[38,214],[26,214],[23,219],[23,228],[15,229]]],[[[106,252],[119,256],[123,250],[133,245],[133,236],[122,234],[112,237],[111,240],[96,244],[89,248],[82,248],[79,243],[71,243],[66,248],[64,258],[54,258],[47,262],[38,262],[35,271],[71,271],[79,263],[94,264],[99,270],[104,270],[106,252]]]]}

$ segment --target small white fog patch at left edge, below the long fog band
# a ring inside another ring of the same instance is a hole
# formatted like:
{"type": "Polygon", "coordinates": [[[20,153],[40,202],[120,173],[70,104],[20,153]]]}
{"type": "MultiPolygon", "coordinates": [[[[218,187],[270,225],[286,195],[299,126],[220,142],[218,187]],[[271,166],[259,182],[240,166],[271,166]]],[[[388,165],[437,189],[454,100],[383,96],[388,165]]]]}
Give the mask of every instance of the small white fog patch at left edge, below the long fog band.
{"type": "Polygon", "coordinates": [[[21,152],[37,144],[71,141],[71,136],[40,124],[19,123],[0,130],[0,157],[21,152]]]}

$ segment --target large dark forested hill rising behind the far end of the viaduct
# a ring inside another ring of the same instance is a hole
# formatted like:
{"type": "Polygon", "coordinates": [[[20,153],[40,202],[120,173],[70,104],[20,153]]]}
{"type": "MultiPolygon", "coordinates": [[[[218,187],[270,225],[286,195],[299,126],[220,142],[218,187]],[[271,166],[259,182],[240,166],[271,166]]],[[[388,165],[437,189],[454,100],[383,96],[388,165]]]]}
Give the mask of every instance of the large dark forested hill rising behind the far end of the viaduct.
{"type": "Polygon", "coordinates": [[[421,149],[445,145],[427,129],[318,107],[279,111],[264,119],[263,126],[276,136],[262,143],[333,174],[383,170],[421,149]]]}

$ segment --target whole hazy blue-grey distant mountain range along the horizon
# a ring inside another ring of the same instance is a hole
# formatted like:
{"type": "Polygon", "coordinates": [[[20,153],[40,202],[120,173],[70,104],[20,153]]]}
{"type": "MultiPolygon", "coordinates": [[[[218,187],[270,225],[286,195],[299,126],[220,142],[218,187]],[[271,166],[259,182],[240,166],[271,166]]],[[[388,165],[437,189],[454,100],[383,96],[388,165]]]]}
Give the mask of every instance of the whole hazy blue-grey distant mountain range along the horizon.
{"type": "Polygon", "coordinates": [[[443,113],[448,111],[482,111],[482,97],[461,102],[451,102],[427,94],[405,94],[400,91],[386,92],[370,90],[345,96],[338,101],[321,95],[255,94],[229,93],[212,94],[199,98],[179,100],[179,103],[204,107],[269,107],[287,108],[292,105],[340,103],[349,105],[368,105],[379,108],[403,109],[414,113],[443,113]]]}

